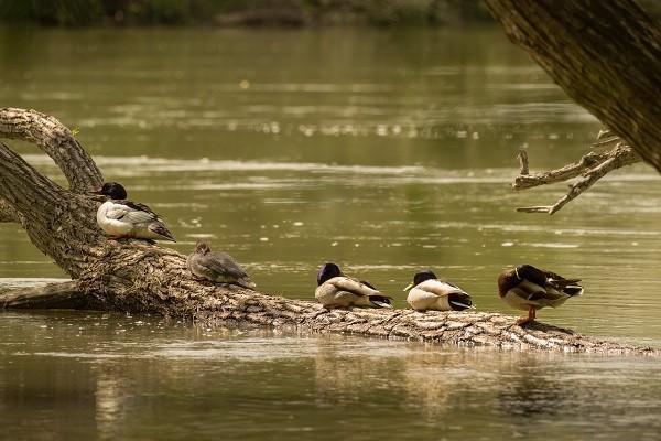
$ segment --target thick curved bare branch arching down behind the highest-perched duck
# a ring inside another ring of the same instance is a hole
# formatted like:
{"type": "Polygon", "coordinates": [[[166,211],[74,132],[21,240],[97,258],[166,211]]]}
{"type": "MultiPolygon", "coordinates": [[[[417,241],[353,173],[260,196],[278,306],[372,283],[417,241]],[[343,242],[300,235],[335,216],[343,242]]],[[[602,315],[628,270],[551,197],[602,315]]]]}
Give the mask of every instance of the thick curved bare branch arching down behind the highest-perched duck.
{"type": "Polygon", "coordinates": [[[104,182],[101,172],[83,146],[54,117],[36,110],[2,108],[0,137],[35,143],[53,159],[75,193],[84,193],[104,182]]]}

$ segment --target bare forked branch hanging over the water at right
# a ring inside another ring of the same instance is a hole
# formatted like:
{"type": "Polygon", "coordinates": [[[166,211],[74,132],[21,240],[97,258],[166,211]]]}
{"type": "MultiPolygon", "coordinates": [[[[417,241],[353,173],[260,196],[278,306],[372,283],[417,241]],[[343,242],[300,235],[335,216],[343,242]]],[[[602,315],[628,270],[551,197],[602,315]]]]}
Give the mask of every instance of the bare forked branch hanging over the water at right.
{"type": "Polygon", "coordinates": [[[570,185],[567,194],[557,200],[555,204],[518,207],[517,212],[554,214],[609,172],[640,161],[640,157],[633,149],[627,146],[619,137],[614,136],[609,130],[600,131],[597,136],[597,142],[595,142],[593,147],[613,144],[615,144],[615,147],[609,151],[592,151],[581,158],[577,162],[560,169],[534,174],[529,174],[528,152],[525,150],[519,151],[521,170],[512,183],[512,189],[514,190],[525,190],[538,185],[553,184],[577,176],[581,176],[581,179],[570,185]]]}

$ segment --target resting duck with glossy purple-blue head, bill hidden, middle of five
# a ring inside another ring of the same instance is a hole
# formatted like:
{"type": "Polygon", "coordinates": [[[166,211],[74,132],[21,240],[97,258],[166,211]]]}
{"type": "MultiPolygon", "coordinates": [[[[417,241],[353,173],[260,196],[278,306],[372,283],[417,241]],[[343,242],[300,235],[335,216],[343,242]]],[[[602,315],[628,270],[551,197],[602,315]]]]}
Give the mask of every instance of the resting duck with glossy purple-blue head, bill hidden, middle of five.
{"type": "Polygon", "coordinates": [[[326,309],[364,306],[392,308],[391,298],[366,281],[343,275],[335,263],[324,263],[317,273],[314,297],[326,309]]]}

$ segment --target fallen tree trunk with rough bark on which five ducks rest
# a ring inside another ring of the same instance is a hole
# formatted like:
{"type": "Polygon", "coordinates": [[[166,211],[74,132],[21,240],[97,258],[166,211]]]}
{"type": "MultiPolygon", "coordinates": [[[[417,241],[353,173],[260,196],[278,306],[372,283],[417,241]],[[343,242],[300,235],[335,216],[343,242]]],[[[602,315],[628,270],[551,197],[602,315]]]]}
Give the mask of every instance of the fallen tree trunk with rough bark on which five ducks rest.
{"type": "Polygon", "coordinates": [[[106,239],[96,225],[100,201],[86,194],[99,186],[102,176],[64,126],[54,118],[21,109],[0,109],[0,136],[36,140],[72,185],[72,190],[59,187],[0,143],[0,197],[6,213],[13,213],[12,219],[21,222],[32,243],[74,279],[41,290],[4,292],[0,303],[6,306],[83,305],[159,313],[208,324],[348,332],[517,349],[658,354],[648,347],[589,338],[542,323],[520,327],[514,318],[496,313],[327,311],[315,302],[199,281],[186,269],[185,256],[172,249],[143,240],[106,239]],[[17,121],[21,129],[7,121],[17,121]],[[67,152],[72,153],[71,160],[66,159],[67,152]]]}

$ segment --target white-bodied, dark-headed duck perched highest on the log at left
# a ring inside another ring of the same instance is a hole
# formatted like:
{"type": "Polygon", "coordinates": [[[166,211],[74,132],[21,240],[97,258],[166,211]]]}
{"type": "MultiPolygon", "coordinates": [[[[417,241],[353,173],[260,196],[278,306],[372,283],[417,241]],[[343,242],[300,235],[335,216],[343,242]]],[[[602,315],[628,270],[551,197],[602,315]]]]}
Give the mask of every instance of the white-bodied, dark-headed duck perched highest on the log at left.
{"type": "Polygon", "coordinates": [[[93,193],[110,197],[97,211],[97,224],[110,235],[110,239],[132,237],[176,241],[163,220],[150,207],[126,200],[127,191],[121,184],[107,182],[93,193]]]}

